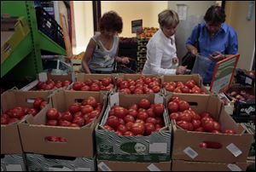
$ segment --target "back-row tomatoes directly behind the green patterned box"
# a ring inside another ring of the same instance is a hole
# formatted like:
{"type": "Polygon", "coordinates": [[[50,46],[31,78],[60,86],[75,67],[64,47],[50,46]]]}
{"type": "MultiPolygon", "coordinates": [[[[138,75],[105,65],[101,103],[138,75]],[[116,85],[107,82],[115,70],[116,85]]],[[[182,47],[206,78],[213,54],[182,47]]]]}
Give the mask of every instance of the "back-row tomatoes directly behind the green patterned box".
{"type": "Polygon", "coordinates": [[[160,79],[158,77],[146,76],[140,76],[137,80],[119,77],[117,79],[117,87],[120,93],[138,95],[159,93],[161,89],[160,79]]]}

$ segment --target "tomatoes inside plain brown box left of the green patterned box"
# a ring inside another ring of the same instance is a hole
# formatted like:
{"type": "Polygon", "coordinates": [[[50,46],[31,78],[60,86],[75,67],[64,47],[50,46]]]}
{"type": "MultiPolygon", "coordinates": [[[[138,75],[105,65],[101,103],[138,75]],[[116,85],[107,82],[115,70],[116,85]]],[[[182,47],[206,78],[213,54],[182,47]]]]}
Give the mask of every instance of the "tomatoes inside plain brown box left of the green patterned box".
{"type": "Polygon", "coordinates": [[[98,118],[102,112],[102,104],[95,97],[88,97],[82,103],[73,103],[66,112],[58,112],[50,108],[46,112],[46,125],[62,127],[83,127],[98,118]]]}

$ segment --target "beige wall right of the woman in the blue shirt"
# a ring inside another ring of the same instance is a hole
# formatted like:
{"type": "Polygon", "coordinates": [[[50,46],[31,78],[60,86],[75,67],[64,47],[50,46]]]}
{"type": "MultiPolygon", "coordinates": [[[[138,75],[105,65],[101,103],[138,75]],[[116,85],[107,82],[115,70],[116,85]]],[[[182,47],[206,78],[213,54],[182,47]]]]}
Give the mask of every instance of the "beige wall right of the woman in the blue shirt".
{"type": "Polygon", "coordinates": [[[253,19],[247,20],[249,1],[226,1],[226,22],[234,27],[238,36],[238,53],[241,54],[237,67],[250,70],[255,51],[255,6],[253,19]]]}

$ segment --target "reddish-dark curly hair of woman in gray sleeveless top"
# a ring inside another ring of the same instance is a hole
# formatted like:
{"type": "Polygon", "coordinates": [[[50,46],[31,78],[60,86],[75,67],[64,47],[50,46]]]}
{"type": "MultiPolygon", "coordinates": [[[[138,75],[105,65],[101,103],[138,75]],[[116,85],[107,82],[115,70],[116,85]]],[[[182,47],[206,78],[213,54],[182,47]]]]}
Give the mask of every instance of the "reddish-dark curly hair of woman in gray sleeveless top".
{"type": "Polygon", "coordinates": [[[114,11],[109,11],[108,13],[103,14],[100,20],[100,32],[102,31],[113,31],[121,33],[123,30],[123,20],[114,11]]]}

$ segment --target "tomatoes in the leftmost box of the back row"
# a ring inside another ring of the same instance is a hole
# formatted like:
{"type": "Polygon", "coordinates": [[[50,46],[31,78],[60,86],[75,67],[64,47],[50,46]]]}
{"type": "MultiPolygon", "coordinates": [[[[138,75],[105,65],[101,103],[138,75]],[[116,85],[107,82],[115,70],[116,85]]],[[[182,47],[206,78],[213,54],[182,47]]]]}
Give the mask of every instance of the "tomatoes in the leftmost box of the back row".
{"type": "Polygon", "coordinates": [[[54,81],[52,79],[48,79],[46,82],[38,82],[38,90],[51,90],[51,89],[60,89],[62,87],[67,87],[71,81],[54,81]]]}

